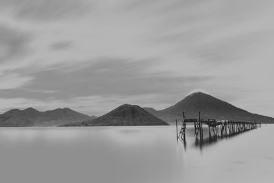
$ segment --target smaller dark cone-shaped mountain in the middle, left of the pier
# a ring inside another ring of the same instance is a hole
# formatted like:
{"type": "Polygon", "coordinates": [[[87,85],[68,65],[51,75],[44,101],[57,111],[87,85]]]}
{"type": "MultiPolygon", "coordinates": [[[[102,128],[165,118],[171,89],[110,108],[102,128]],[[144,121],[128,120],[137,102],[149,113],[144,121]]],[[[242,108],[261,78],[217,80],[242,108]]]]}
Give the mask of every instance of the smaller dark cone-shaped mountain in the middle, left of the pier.
{"type": "Polygon", "coordinates": [[[88,125],[88,126],[132,126],[132,125],[169,125],[168,123],[153,116],[143,108],[135,105],[124,104],[118,108],[108,112],[107,114],[84,121],[82,123],[73,123],[72,125],[88,125]]]}

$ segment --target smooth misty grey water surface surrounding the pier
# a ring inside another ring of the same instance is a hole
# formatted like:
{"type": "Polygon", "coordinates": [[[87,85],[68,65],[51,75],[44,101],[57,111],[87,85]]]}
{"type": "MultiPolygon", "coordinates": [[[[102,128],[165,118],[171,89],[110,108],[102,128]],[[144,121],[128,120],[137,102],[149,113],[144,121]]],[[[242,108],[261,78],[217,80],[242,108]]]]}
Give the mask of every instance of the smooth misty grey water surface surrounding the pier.
{"type": "MultiPolygon", "coordinates": [[[[0,128],[1,182],[273,182],[274,125],[201,147],[188,127],[0,128]]],[[[205,130],[205,134],[207,131],[205,130]]]]}

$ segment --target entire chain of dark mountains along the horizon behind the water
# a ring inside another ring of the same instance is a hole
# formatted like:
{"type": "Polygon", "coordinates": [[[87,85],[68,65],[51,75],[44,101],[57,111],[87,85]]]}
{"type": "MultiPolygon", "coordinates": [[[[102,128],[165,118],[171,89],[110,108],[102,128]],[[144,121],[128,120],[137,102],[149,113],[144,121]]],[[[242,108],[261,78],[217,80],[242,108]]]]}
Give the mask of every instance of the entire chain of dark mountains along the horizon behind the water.
{"type": "Polygon", "coordinates": [[[0,127],[172,125],[175,124],[175,119],[179,121],[182,119],[182,112],[185,112],[186,118],[197,118],[199,111],[201,112],[201,118],[206,119],[274,123],[272,117],[253,114],[211,95],[199,92],[192,93],[173,106],[163,110],[124,104],[101,117],[90,117],[69,108],[58,108],[45,112],[40,112],[34,108],[13,109],[0,114],[0,127]]]}

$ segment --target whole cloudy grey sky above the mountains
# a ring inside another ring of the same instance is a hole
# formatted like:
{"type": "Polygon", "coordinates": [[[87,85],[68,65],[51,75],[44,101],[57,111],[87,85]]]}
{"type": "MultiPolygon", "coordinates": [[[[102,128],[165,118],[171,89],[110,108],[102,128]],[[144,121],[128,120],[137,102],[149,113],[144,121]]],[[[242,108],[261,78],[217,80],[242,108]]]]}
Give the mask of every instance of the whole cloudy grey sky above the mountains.
{"type": "Polygon", "coordinates": [[[157,110],[203,91],[274,117],[274,1],[0,0],[0,113],[157,110]]]}

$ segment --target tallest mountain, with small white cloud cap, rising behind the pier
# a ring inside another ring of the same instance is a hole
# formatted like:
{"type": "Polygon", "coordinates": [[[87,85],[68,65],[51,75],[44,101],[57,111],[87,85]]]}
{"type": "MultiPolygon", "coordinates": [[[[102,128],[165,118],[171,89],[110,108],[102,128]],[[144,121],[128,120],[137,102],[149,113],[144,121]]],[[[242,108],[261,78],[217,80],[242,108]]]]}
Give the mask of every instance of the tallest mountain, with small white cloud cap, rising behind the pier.
{"type": "MultiPolygon", "coordinates": [[[[147,108],[145,108],[147,110],[147,108]]],[[[153,109],[153,108],[152,108],[153,109]]],[[[175,119],[182,119],[182,112],[185,112],[186,118],[197,118],[198,112],[201,112],[201,118],[206,119],[227,119],[238,121],[258,121],[261,123],[274,123],[271,117],[253,114],[242,110],[232,104],[216,99],[205,93],[192,93],[182,101],[164,110],[148,110],[156,117],[168,122],[175,123],[175,119]]]]}

